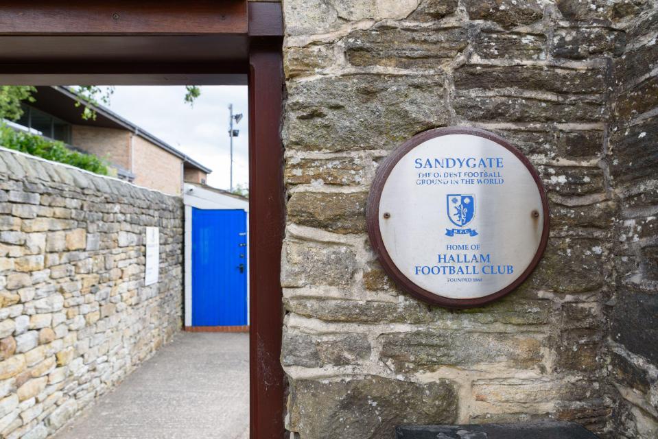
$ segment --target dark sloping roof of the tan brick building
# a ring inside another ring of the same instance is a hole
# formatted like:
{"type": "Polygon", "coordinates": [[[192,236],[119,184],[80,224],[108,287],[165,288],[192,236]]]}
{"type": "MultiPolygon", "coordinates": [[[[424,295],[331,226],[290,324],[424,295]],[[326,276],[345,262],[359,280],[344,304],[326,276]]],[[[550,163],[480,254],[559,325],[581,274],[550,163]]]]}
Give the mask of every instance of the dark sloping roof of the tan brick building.
{"type": "Polygon", "coordinates": [[[176,150],[172,145],[166,143],[162,139],[158,139],[150,132],[144,130],[143,128],[135,125],[128,119],[124,119],[117,115],[107,107],[102,105],[88,104],[89,108],[92,108],[96,112],[95,120],[84,120],[82,119],[82,111],[84,110],[83,106],[75,106],[75,103],[78,102],[79,98],[75,93],[70,91],[68,88],[63,86],[38,86],[36,87],[37,93],[34,96],[36,102],[31,102],[30,106],[38,108],[44,112],[47,112],[51,115],[58,117],[69,123],[75,125],[83,126],[99,126],[103,128],[119,128],[134,132],[134,134],[139,137],[150,141],[154,145],[161,147],[163,150],[173,154],[174,156],[183,160],[184,166],[186,168],[200,169],[206,174],[210,174],[212,169],[205,167],[198,161],[194,160],[190,156],[183,154],[176,150]]]}

